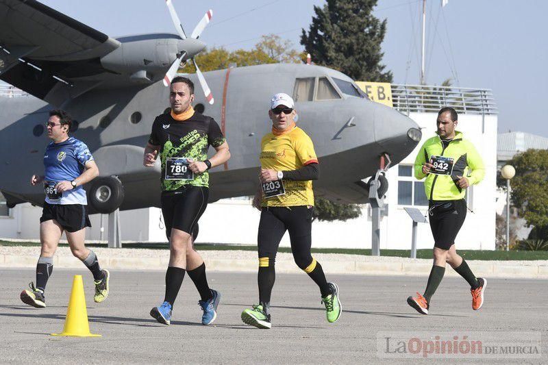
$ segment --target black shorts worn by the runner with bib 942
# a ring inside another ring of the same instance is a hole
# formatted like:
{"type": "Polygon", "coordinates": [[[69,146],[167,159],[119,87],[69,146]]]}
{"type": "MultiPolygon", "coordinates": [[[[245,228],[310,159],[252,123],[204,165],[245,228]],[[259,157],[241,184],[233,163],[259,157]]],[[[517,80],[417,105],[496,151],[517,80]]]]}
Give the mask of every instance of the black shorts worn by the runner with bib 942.
{"type": "Polygon", "coordinates": [[[466,201],[432,201],[429,203],[428,212],[434,247],[450,249],[451,245],[455,244],[455,238],[466,218],[466,201]]]}

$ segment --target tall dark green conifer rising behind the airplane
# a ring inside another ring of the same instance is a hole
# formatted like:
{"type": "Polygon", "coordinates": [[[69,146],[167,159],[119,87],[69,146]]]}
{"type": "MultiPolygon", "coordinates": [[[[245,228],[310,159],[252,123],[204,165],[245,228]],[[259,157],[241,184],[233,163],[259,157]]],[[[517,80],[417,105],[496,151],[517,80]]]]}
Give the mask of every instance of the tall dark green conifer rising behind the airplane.
{"type": "Polygon", "coordinates": [[[373,16],[377,0],[327,0],[308,32],[302,29],[301,45],[315,64],[336,68],[355,80],[392,82],[392,72],[381,64],[381,43],[386,19],[373,16]]]}

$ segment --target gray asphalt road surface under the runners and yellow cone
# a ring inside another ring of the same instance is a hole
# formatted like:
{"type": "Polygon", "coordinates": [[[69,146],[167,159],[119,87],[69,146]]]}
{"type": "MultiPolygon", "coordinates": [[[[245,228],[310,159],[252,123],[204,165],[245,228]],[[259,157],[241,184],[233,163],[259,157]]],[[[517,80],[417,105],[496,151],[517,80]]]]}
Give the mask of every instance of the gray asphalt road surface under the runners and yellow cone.
{"type": "MultiPolygon", "coordinates": [[[[164,272],[112,270],[110,296],[93,302],[92,276],[87,270],[54,270],[46,292],[47,307],[35,309],[19,299],[34,281],[34,269],[0,270],[0,362],[40,364],[416,364],[432,362],[417,356],[383,358],[380,332],[473,331],[504,338],[505,333],[541,333],[540,357],[511,359],[506,355],[468,358],[466,363],[548,363],[548,281],[489,279],[486,302],[471,309],[471,295],[461,278],[445,278],[432,299],[429,316],[421,316],[406,298],[423,291],[425,277],[329,275],[340,288],[343,314],[337,323],[325,320],[319,290],[307,275],[277,275],[270,330],[241,322],[240,313],[257,299],[256,274],[208,273],[210,286],[221,292],[213,325],[201,325],[198,294],[185,277],[170,326],[149,316],[164,297],[164,272]],[[73,275],[84,277],[88,318],[100,338],[59,338],[73,275]],[[377,347],[380,349],[377,350],[377,347]]],[[[410,335],[412,336],[412,335],[410,335]]],[[[395,344],[390,344],[390,351],[395,344]]],[[[394,356],[394,355],[393,355],[394,356]]],[[[396,355],[397,356],[397,355],[396,355]]],[[[438,362],[459,362],[456,358],[438,362]]]]}

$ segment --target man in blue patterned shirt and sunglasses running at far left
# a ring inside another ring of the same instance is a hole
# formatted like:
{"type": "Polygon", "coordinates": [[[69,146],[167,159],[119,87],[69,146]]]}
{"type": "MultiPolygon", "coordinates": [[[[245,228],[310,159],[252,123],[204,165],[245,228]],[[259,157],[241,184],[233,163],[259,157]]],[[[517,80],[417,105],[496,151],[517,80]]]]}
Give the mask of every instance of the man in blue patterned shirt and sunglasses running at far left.
{"type": "Polygon", "coordinates": [[[88,146],[69,136],[72,120],[63,110],[52,110],[46,123],[47,136],[52,140],[44,154],[44,175],[32,175],[30,183],[44,184],[45,202],[40,217],[42,250],[36,265],[36,287],[21,292],[23,303],[33,307],[46,306],[44,292],[53,272],[53,254],[64,233],[75,257],[89,268],[95,280],[97,303],[108,297],[110,273],[101,270],[97,255],[84,246],[88,217],[88,199],[83,185],[99,175],[97,164],[88,146]]]}

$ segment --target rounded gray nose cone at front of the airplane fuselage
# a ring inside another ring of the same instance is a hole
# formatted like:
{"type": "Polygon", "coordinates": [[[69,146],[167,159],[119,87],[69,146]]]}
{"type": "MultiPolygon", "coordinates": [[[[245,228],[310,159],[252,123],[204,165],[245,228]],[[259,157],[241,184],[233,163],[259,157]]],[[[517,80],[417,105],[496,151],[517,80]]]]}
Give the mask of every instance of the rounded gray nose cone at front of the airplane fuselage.
{"type": "Polygon", "coordinates": [[[374,121],[375,141],[391,158],[405,158],[421,142],[419,125],[395,109],[377,104],[374,121]]]}

